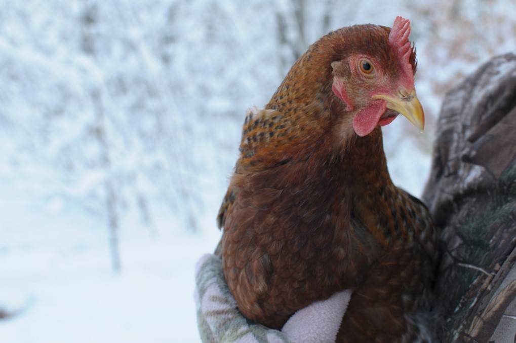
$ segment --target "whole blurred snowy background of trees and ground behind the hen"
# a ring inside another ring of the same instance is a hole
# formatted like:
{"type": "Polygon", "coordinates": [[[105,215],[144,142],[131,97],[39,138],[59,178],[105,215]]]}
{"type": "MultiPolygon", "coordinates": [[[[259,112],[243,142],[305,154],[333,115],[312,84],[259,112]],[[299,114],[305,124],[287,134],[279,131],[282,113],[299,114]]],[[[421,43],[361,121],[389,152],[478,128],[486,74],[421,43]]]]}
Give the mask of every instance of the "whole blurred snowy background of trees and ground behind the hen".
{"type": "Polygon", "coordinates": [[[384,128],[420,195],[444,93],[516,51],[513,0],[0,1],[0,340],[195,342],[197,259],[251,105],[330,30],[412,23],[427,129],[384,128]]]}

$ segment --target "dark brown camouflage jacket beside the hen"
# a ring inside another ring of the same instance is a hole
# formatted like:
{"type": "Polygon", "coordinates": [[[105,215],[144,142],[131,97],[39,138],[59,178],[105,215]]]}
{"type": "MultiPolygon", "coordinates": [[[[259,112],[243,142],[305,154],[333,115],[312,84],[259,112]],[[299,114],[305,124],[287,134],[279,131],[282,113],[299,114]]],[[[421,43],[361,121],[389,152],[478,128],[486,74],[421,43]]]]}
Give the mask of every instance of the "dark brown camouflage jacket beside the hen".
{"type": "Polygon", "coordinates": [[[516,337],[516,55],[483,64],[443,100],[423,199],[442,242],[443,342],[516,337]]]}

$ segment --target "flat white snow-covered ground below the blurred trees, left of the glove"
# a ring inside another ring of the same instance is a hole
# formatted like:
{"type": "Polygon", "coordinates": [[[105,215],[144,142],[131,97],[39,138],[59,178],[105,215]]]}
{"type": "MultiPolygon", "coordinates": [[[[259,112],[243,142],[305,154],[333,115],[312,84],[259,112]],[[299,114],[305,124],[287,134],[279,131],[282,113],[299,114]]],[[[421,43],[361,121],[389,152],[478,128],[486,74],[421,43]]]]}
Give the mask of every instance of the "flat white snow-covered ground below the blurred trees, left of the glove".
{"type": "Polygon", "coordinates": [[[3,341],[196,341],[191,271],[213,249],[198,241],[178,236],[125,244],[121,275],[111,274],[102,249],[12,254],[17,260],[6,263],[31,268],[17,275],[1,270],[11,276],[0,294],[15,289],[15,296],[27,297],[22,312],[0,326],[3,341]]]}

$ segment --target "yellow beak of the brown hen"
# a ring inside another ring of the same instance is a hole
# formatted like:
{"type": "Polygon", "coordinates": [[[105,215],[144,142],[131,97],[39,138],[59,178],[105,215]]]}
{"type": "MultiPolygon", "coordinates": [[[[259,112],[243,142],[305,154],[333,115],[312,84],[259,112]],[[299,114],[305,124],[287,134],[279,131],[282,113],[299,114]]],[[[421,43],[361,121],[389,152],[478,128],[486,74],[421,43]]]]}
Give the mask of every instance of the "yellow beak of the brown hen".
{"type": "Polygon", "coordinates": [[[373,99],[385,100],[387,102],[387,108],[404,115],[416,128],[420,129],[420,131],[425,129],[425,113],[423,112],[421,103],[416,97],[415,90],[412,90],[408,94],[399,91],[398,96],[386,94],[374,95],[373,99]]]}

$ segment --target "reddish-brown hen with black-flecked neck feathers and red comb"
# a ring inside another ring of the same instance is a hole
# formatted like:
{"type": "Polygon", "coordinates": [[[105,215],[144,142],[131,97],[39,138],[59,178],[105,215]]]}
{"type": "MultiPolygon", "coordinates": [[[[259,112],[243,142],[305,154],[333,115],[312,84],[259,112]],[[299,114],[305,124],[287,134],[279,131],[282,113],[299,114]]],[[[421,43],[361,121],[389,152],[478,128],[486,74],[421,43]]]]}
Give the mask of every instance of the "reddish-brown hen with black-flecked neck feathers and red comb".
{"type": "Polygon", "coordinates": [[[422,202],[391,181],[380,128],[398,114],[424,128],[409,34],[401,17],[331,32],[248,111],[218,214],[224,276],[247,318],[281,328],[352,289],[337,341],[423,336],[436,235],[422,202]]]}

